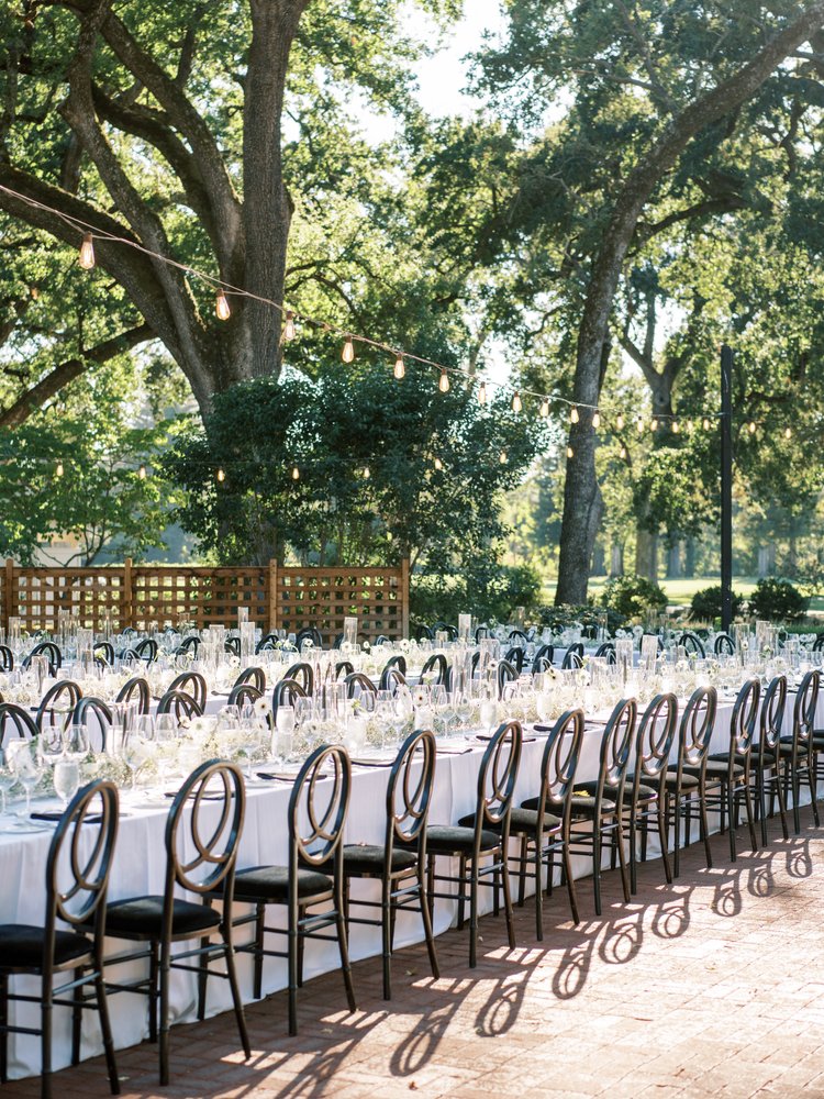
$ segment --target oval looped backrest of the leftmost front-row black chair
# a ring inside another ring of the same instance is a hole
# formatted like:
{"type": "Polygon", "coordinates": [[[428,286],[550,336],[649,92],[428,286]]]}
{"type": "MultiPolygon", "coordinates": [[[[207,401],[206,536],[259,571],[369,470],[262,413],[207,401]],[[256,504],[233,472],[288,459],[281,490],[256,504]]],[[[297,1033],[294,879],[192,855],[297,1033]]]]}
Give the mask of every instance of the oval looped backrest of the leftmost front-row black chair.
{"type": "Polygon", "coordinates": [[[46,859],[46,950],[54,946],[57,921],[93,924],[102,948],[105,896],[118,839],[118,788],[98,779],[78,790],[60,818],[46,859]],[[97,828],[90,848],[88,835],[97,828]],[[82,836],[82,837],[81,837],[82,836]]]}

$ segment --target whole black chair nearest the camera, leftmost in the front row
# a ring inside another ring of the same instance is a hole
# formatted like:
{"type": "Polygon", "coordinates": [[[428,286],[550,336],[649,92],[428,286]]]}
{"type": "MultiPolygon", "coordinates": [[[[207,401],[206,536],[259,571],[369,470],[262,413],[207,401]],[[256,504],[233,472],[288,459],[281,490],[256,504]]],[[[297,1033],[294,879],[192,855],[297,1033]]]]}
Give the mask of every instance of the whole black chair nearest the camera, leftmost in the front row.
{"type": "Polygon", "coordinates": [[[118,837],[118,789],[97,781],[75,795],[52,836],[46,859],[46,912],[43,926],[0,925],[0,1080],[8,1081],[8,1035],[40,1034],[41,1097],[52,1096],[53,1007],[71,1008],[71,1064],[80,1059],[83,1009],[96,1009],[100,1018],[103,1050],[112,1095],[120,1095],[114,1044],[103,980],[103,936],[109,872],[118,837]],[[97,839],[87,846],[81,832],[97,828],[97,839]],[[68,924],[69,930],[58,928],[68,924]],[[86,934],[81,933],[82,931],[86,934]],[[9,991],[9,979],[18,975],[41,978],[40,996],[9,991]],[[55,987],[57,974],[69,978],[55,987]],[[93,995],[85,992],[93,987],[93,995]],[[41,1006],[38,1030],[9,1022],[9,1003],[35,1001],[41,1006]]]}

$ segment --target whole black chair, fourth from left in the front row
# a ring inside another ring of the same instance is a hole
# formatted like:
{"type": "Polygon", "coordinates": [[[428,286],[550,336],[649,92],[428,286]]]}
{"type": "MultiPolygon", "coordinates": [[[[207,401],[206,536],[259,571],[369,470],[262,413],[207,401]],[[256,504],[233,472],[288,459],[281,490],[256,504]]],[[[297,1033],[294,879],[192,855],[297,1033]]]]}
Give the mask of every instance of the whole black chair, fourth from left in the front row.
{"type": "Polygon", "coordinates": [[[435,737],[428,731],[410,733],[396,756],[387,785],[387,824],[383,844],[346,844],[344,847],[344,911],[352,923],[379,926],[383,954],[383,999],[392,996],[391,957],[396,913],[413,908],[421,913],[432,976],[441,974],[426,897],[426,822],[435,779],[435,737]],[[380,880],[380,900],[353,901],[353,878],[380,880]],[[357,909],[379,908],[380,918],[352,915],[357,909]]]}

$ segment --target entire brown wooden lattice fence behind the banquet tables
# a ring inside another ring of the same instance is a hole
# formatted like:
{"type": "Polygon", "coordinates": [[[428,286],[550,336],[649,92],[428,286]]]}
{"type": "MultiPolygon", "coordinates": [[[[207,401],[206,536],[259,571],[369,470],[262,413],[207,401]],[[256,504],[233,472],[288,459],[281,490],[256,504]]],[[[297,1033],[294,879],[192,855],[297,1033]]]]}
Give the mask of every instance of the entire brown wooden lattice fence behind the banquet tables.
{"type": "Polygon", "coordinates": [[[18,618],[23,630],[57,630],[60,611],[100,631],[147,630],[170,622],[234,626],[237,608],[264,631],[297,633],[315,626],[325,642],[356,614],[366,637],[409,633],[409,562],[397,568],[305,568],[270,562],[237,568],[123,565],[97,568],[29,568],[5,562],[0,573],[2,625],[18,618]]]}

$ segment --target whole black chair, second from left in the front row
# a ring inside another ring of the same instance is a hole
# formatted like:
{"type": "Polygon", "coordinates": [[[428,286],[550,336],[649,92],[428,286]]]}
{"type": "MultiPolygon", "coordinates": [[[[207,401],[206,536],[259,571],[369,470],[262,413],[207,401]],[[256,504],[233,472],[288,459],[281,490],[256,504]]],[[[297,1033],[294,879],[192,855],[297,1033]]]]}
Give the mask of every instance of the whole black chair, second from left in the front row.
{"type": "Polygon", "coordinates": [[[160,1084],[169,1083],[169,985],[172,969],[199,975],[199,1014],[204,1015],[207,976],[229,980],[237,1030],[246,1057],[252,1056],[237,987],[235,952],[232,943],[237,846],[243,830],[245,792],[243,776],[234,764],[211,759],[201,764],[186,779],[169,809],[166,822],[166,878],[162,895],[130,897],[107,906],[105,933],[145,944],[136,953],[107,958],[111,967],[122,962],[145,959],[148,977],[132,984],[107,980],[111,991],[138,992],[148,997],[151,1041],[159,1035],[160,1084]],[[215,824],[212,802],[220,795],[215,824]],[[178,890],[205,900],[220,893],[221,913],[210,904],[185,900],[178,890]],[[211,935],[220,934],[212,943],[211,935]],[[172,953],[174,943],[199,939],[198,946],[172,953]],[[226,972],[209,968],[222,958],[226,972]]]}

